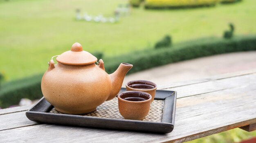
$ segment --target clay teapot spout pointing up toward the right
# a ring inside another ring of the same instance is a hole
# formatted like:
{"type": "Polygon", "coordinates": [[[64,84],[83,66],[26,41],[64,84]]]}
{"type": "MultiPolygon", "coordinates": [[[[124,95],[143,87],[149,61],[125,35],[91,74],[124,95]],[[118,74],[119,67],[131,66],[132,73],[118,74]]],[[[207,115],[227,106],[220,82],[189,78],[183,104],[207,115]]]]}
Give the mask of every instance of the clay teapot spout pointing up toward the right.
{"type": "Polygon", "coordinates": [[[121,89],[126,73],[131,68],[132,64],[121,63],[117,70],[114,73],[110,74],[112,89],[107,101],[116,97],[116,95],[121,89]]]}

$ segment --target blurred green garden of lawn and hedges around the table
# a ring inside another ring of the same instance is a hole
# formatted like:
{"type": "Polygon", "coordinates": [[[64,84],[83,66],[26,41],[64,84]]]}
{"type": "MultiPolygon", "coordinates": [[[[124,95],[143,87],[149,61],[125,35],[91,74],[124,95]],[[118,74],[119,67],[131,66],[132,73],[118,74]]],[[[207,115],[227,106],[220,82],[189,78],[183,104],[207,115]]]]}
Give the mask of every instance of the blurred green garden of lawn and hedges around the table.
{"type": "MultiPolygon", "coordinates": [[[[0,0],[0,107],[42,97],[54,55],[79,42],[112,73],[256,50],[255,0],[0,0]],[[146,64],[145,64],[146,63],[146,64]]],[[[234,129],[189,143],[256,136],[234,129]]]]}

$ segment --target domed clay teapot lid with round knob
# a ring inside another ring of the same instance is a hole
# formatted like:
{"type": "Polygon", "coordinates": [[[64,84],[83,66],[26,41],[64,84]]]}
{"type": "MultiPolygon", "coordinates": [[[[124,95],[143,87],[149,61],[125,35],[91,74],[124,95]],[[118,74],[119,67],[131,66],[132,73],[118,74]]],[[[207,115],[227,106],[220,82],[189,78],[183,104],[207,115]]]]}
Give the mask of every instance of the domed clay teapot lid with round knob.
{"type": "Polygon", "coordinates": [[[97,62],[97,57],[94,57],[89,52],[83,51],[81,44],[74,43],[70,51],[62,53],[56,60],[61,64],[86,65],[97,62]]]}

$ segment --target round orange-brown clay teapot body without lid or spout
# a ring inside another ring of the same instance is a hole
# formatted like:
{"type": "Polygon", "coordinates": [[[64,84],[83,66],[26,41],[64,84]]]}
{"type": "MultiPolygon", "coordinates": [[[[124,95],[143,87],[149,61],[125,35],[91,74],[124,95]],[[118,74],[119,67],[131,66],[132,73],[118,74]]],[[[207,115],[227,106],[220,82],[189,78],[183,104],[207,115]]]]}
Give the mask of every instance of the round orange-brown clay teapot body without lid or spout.
{"type": "MultiPolygon", "coordinates": [[[[51,65],[50,65],[51,66],[51,65]]],[[[94,111],[111,92],[111,79],[96,64],[65,65],[58,63],[43,75],[41,89],[56,110],[67,114],[94,111]]]]}

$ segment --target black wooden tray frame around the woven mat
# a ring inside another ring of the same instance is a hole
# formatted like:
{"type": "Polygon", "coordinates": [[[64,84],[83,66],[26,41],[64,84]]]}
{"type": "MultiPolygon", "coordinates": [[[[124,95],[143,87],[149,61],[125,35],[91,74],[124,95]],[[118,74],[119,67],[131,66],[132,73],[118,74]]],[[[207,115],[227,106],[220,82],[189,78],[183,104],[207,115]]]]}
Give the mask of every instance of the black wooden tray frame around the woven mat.
{"type": "MultiPolygon", "coordinates": [[[[121,88],[120,92],[124,91],[126,91],[126,89],[121,88]]],[[[86,115],[81,116],[73,114],[56,114],[52,112],[54,107],[48,101],[46,101],[44,97],[26,112],[26,116],[31,121],[42,123],[76,125],[92,128],[108,128],[115,130],[169,133],[174,128],[176,96],[177,92],[175,91],[156,91],[155,100],[164,101],[164,105],[161,111],[162,119],[159,122],[91,117],[86,115]]],[[[151,103],[150,110],[153,108],[153,103],[154,101],[151,103]]]]}

